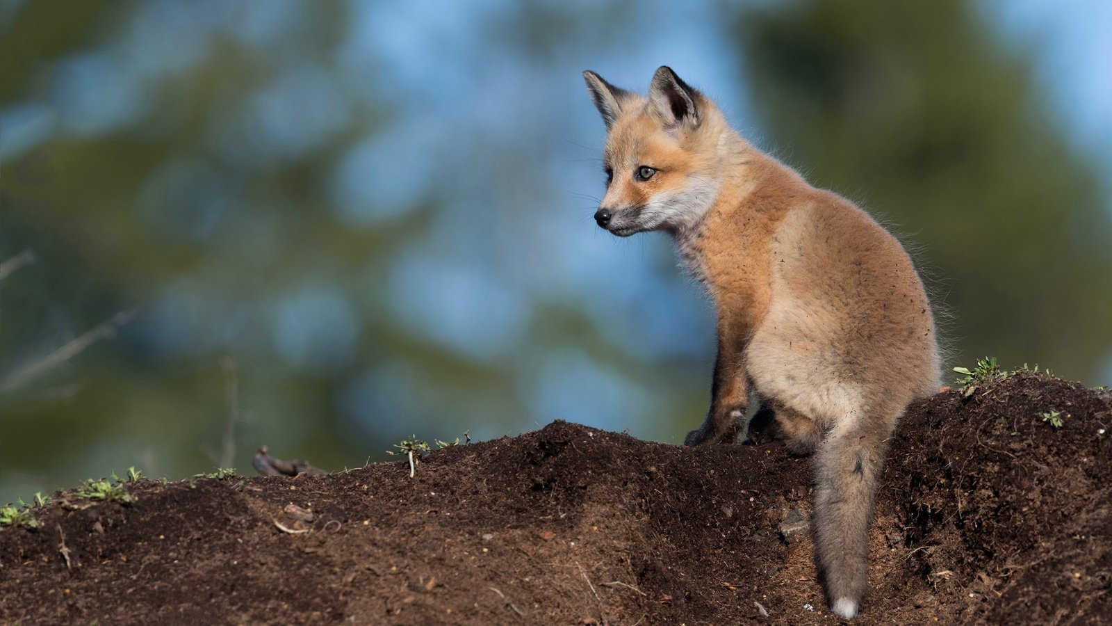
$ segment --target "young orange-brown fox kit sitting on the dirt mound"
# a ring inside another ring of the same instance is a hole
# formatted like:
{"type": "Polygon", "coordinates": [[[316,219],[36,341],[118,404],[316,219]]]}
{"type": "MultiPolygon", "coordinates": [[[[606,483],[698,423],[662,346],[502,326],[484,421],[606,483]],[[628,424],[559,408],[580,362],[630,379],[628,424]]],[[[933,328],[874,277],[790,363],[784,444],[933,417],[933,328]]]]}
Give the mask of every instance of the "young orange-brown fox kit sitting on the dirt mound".
{"type": "Polygon", "coordinates": [[[736,442],[753,395],[791,451],[813,454],[816,565],[852,619],[887,440],[940,385],[923,281],[867,213],[755,148],[667,66],[647,96],[583,76],[606,126],[595,222],[668,233],[716,312],[711,407],[684,443],[736,442]]]}

